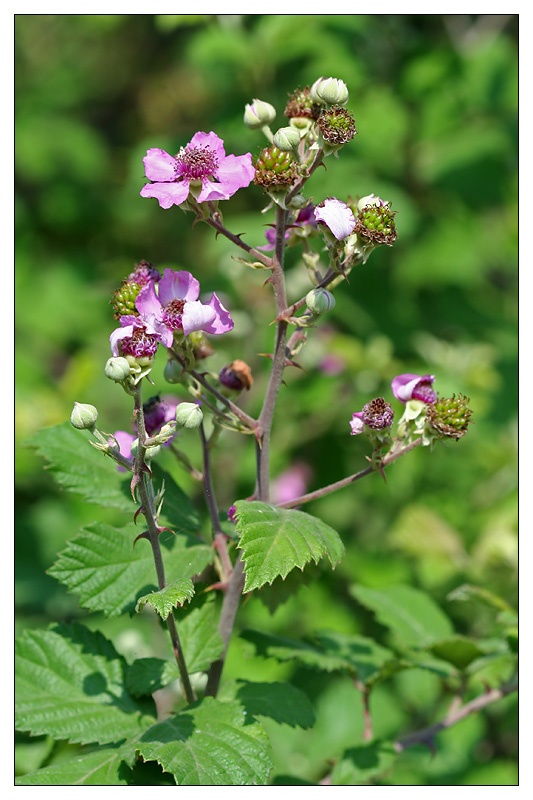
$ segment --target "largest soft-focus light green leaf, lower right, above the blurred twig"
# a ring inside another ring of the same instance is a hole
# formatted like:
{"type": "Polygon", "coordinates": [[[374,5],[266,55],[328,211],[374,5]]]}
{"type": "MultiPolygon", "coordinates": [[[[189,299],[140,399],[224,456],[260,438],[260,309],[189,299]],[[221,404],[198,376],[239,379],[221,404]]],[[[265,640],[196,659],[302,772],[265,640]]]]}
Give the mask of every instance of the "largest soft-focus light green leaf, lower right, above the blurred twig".
{"type": "Polygon", "coordinates": [[[385,627],[407,647],[429,647],[452,636],[453,626],[446,614],[425,592],[411,586],[369,589],[352,586],[350,593],[371,609],[385,627]]]}

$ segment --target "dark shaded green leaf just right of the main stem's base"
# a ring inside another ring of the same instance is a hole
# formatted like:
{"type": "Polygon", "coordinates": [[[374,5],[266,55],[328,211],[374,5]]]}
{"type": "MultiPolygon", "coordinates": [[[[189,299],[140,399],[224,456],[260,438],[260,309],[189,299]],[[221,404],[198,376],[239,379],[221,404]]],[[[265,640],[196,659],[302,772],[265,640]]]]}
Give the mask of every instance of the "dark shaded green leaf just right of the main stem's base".
{"type": "Polygon", "coordinates": [[[315,723],[315,713],[307,695],[291,683],[239,680],[233,694],[253,717],[269,717],[292,728],[311,728],[315,723]]]}

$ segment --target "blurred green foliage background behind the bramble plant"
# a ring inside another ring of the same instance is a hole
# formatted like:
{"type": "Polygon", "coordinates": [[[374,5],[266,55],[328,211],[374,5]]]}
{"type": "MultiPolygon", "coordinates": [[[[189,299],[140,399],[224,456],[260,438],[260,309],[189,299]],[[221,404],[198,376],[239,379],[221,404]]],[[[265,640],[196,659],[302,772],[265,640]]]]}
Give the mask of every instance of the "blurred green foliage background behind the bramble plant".
{"type": "MultiPolygon", "coordinates": [[[[272,103],[281,127],[287,94],[331,75],[349,87],[359,133],[307,193],[315,202],[372,192],[390,200],[398,240],[336,291],[335,312],[300,354],[305,371],[288,371],[273,475],[306,464],[311,490],[363,468],[367,447],[349,436],[348,421],[372,397],[390,400],[401,372],[433,373],[442,395],[466,394],[475,424],[459,443],[413,452],[386,484],[372,476],[309,505],[339,531],[346,558],[334,573],[318,570],[319,581],[274,614],[252,599],[239,624],[372,635],[348,587],[409,583],[428,590],[462,632],[492,634],[483,607],[446,597],[469,582],[516,604],[517,39],[515,15],[15,17],[18,627],[86,617],[45,570],[81,525],[113,515],[65,496],[26,443],[67,419],[74,400],[96,405],[104,430],[129,428],[128,398],[103,365],[116,326],[110,293],[136,262],[190,270],[202,291],[223,298],[236,325],[214,343],[208,367],[244,358],[255,382],[243,404],[250,413],[260,407],[269,362],[258,354],[271,350],[273,316],[264,274],[232,259],[240,253],[207,226],[192,229],[191,215],[140,198],[146,149],[175,153],[196,131],[213,130],[226,152],[255,155],[264,140],[244,127],[245,103],[272,103]],[[329,355],[338,370],[326,375],[329,355]]],[[[265,205],[252,185],[223,204],[225,222],[263,244],[272,222],[271,212],[259,213],[265,205]]],[[[298,299],[308,283],[294,251],[288,265],[289,297],[298,299]]],[[[172,390],[163,366],[154,393],[172,390]]],[[[192,435],[184,443],[196,458],[192,435]]],[[[215,469],[224,475],[222,508],[251,494],[250,439],[227,432],[215,469]]],[[[197,486],[175,474],[203,510],[197,486]]],[[[118,636],[125,652],[132,642],[138,652],[144,626],[150,652],[145,623],[87,622],[118,636]]],[[[276,669],[232,645],[228,677],[262,679],[276,669]]],[[[319,721],[313,732],[283,730],[277,769],[316,780],[317,753],[335,758],[360,742],[360,698],[342,680],[323,684],[300,672],[319,721]]],[[[406,729],[413,715],[424,721],[442,702],[439,686],[414,673],[375,697],[383,736],[406,729]]],[[[466,720],[442,737],[435,759],[407,754],[389,782],[515,783],[515,714],[508,698],[466,720]]],[[[19,769],[39,766],[35,746],[21,741],[19,769]]]]}

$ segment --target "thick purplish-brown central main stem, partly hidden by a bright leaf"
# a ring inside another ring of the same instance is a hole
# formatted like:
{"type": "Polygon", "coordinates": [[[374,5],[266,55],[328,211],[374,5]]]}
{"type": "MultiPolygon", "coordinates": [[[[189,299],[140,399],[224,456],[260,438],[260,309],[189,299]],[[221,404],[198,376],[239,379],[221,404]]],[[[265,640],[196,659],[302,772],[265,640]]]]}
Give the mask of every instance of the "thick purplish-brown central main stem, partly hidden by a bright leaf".
{"type": "MultiPolygon", "coordinates": [[[[278,316],[279,313],[287,306],[287,298],[285,295],[285,276],[283,273],[286,225],[287,212],[279,206],[276,206],[276,246],[272,262],[272,277],[270,279],[274,288],[274,297],[276,300],[276,316],[278,316]]],[[[274,345],[274,353],[272,356],[272,369],[263,402],[263,408],[261,409],[261,414],[259,415],[258,419],[258,430],[260,435],[256,445],[257,477],[255,497],[257,500],[263,500],[265,502],[268,502],[270,498],[270,432],[272,429],[276,399],[283,378],[283,370],[285,368],[286,340],[287,322],[285,320],[279,320],[276,323],[276,340],[274,345]]],[[[206,694],[211,695],[212,697],[216,696],[220,684],[222,669],[224,667],[224,661],[228,652],[229,640],[235,624],[235,617],[237,615],[237,609],[239,608],[239,602],[243,588],[244,564],[239,554],[233,567],[231,578],[228,582],[226,594],[222,603],[222,610],[220,612],[219,633],[225,645],[224,652],[221,658],[211,665],[207,679],[206,694]]]]}

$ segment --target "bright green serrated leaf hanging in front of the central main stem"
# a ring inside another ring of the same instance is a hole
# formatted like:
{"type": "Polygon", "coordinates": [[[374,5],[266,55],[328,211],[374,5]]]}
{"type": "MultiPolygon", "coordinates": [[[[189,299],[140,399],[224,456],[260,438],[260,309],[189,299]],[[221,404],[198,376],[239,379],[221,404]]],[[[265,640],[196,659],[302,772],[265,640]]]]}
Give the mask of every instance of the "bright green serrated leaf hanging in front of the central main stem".
{"type": "Polygon", "coordinates": [[[335,567],[344,553],[339,534],[316,517],[260,502],[235,503],[246,579],[244,592],[328,556],[335,567]]]}

